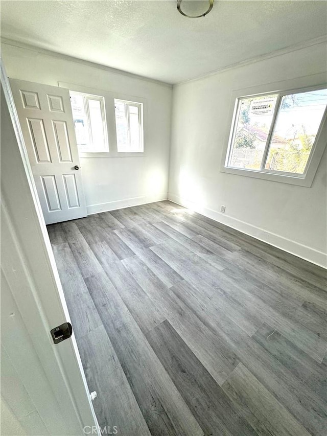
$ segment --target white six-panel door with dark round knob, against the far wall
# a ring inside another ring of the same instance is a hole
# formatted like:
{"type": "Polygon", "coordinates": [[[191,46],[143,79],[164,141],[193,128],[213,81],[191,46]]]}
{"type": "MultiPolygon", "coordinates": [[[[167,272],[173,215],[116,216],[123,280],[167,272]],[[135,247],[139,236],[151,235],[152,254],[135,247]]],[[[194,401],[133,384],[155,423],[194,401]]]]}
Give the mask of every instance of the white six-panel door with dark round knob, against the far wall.
{"type": "Polygon", "coordinates": [[[46,224],[85,217],[69,90],[10,79],[46,224]]]}

